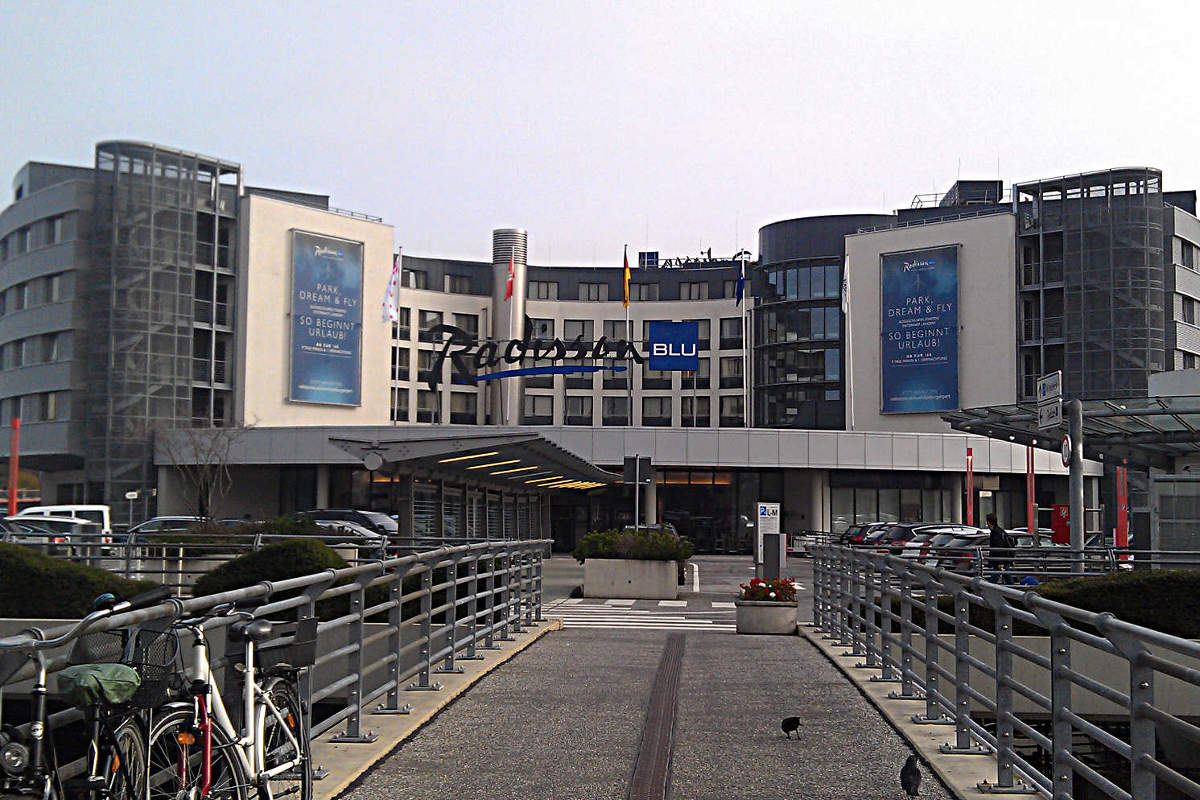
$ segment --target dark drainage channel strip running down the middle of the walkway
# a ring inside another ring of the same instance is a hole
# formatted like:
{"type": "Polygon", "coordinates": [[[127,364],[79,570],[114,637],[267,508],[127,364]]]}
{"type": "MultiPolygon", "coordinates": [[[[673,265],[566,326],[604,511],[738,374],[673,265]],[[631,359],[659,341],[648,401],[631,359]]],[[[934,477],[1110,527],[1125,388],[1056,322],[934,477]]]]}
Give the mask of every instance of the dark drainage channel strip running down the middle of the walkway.
{"type": "Polygon", "coordinates": [[[634,763],[626,800],[666,800],[671,783],[671,751],[674,746],[674,718],[679,708],[679,676],[683,673],[683,633],[667,636],[662,660],[650,686],[642,741],[634,763]]]}

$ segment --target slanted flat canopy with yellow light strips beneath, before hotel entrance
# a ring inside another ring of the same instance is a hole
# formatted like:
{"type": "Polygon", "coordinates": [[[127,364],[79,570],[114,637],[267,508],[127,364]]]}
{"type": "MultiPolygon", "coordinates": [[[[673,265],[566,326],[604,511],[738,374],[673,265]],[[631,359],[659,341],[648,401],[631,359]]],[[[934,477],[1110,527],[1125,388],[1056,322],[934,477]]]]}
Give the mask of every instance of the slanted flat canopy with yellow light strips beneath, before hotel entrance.
{"type": "Polygon", "coordinates": [[[622,480],[532,431],[413,428],[371,438],[330,437],[329,441],[367,469],[402,465],[514,491],[594,489],[622,480]]]}

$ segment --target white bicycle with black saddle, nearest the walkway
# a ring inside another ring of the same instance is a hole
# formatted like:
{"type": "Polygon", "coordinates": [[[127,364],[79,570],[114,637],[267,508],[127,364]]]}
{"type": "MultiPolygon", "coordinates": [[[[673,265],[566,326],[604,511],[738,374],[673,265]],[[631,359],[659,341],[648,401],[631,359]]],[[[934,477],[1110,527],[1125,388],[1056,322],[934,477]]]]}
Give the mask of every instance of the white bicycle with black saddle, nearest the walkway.
{"type": "Polygon", "coordinates": [[[166,706],[148,739],[149,800],[311,800],[312,763],[306,709],[299,675],[316,658],[317,619],[295,624],[284,646],[281,631],[264,619],[217,606],[206,614],[176,620],[174,630],[192,639],[188,699],[166,706]],[[205,628],[234,616],[230,638],[245,643],[234,670],[241,678],[240,728],[216,691],[205,628]],[[263,664],[258,657],[264,658],[263,664]]]}

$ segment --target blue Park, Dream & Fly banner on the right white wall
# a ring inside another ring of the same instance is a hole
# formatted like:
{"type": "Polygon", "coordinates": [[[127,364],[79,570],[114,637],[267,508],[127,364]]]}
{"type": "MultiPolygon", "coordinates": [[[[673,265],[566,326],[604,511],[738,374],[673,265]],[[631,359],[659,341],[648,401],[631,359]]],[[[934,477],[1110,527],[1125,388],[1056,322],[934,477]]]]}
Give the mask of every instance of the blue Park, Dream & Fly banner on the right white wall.
{"type": "Polygon", "coordinates": [[[881,257],[881,410],[959,408],[959,248],[881,257]]]}

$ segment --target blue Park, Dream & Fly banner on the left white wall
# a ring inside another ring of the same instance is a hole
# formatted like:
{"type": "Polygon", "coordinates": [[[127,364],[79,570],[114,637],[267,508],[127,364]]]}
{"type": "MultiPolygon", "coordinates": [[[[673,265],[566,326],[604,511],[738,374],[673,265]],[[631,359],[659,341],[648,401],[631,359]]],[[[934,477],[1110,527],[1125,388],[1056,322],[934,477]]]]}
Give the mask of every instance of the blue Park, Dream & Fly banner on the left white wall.
{"type": "Polygon", "coordinates": [[[292,231],[292,390],[298,403],[361,402],[362,242],[292,231]]]}

